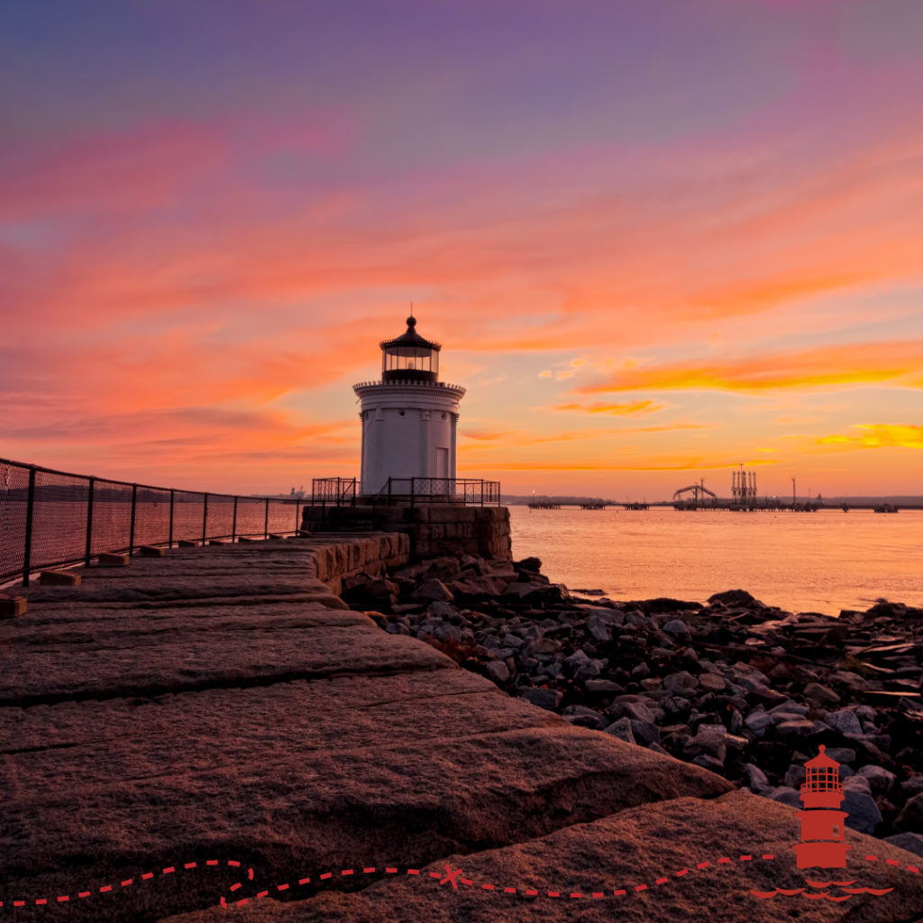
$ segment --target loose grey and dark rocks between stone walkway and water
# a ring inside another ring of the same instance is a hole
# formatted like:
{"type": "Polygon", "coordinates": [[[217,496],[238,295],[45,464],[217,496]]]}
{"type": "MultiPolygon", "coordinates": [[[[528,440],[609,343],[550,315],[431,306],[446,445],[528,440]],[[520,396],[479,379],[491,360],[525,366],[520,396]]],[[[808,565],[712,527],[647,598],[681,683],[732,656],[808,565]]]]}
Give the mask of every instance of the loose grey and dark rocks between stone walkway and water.
{"type": "Polygon", "coordinates": [[[789,613],[743,590],[707,605],[613,602],[518,562],[439,557],[344,581],[342,598],[511,696],[800,807],[822,743],[847,825],[923,855],[923,609],[789,613]]]}

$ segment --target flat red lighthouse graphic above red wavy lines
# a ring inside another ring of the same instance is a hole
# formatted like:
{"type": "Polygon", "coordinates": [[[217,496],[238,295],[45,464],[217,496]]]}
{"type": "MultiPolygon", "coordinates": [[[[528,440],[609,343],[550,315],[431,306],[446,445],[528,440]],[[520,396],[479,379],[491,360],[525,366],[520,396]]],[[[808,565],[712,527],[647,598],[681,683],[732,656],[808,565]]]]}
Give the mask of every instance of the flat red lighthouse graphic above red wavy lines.
{"type": "Polygon", "coordinates": [[[821,753],[805,763],[805,782],[801,786],[801,801],[805,810],[798,811],[801,821],[801,842],[795,845],[799,869],[845,869],[846,850],[843,784],[840,764],[821,753]]]}

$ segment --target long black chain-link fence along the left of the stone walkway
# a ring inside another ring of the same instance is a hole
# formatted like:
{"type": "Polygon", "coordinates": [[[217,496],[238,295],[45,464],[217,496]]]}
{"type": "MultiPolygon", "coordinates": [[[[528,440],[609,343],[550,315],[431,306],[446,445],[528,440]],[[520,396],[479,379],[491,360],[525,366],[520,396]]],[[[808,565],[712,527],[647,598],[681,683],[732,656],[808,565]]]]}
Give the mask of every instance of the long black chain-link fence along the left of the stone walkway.
{"type": "Polygon", "coordinates": [[[299,530],[298,498],[151,487],[0,459],[0,583],[142,545],[299,530]],[[294,509],[293,509],[294,508],[294,509]]]}

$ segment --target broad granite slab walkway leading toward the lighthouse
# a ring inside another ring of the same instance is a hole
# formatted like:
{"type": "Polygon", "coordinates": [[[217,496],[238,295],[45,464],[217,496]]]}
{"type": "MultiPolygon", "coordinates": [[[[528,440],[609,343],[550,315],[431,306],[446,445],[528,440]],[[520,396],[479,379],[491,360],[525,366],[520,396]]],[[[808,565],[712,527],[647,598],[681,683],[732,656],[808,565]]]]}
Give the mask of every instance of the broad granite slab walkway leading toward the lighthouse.
{"type": "Polygon", "coordinates": [[[397,543],[174,549],[25,591],[0,621],[0,920],[923,918],[915,857],[852,833],[836,880],[892,892],[752,896],[804,886],[792,809],[330,593],[397,543]]]}

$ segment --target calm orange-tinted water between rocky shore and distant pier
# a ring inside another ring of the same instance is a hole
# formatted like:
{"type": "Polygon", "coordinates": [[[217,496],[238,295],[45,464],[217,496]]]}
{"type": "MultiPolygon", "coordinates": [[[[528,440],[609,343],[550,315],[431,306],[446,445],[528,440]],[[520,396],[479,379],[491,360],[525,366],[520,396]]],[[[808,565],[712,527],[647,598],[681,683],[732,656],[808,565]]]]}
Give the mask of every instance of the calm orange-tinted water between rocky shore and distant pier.
{"type": "Polygon", "coordinates": [[[923,605],[923,510],[816,513],[509,508],[513,557],[610,599],[705,600],[738,587],[766,605],[837,614],[884,597],[923,605]]]}

